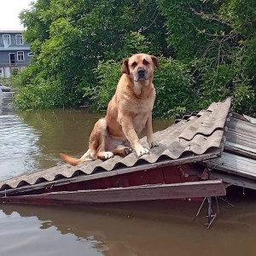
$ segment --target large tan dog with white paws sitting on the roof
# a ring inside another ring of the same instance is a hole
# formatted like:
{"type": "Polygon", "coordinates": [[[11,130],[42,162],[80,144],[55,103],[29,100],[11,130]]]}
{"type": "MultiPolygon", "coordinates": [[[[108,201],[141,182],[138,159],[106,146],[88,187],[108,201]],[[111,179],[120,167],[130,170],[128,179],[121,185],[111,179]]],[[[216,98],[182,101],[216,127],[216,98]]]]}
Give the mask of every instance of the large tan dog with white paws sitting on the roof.
{"type": "Polygon", "coordinates": [[[130,147],[138,157],[148,154],[148,148],[143,148],[137,136],[145,126],[149,148],[158,145],[152,130],[154,67],[160,70],[159,61],[153,55],[137,54],[125,59],[123,75],[108,103],[107,115],[96,122],[90,134],[88,151],[80,159],[61,154],[63,160],[73,166],[85,160],[107,160],[114,154],[125,156],[131,153],[130,147]]]}

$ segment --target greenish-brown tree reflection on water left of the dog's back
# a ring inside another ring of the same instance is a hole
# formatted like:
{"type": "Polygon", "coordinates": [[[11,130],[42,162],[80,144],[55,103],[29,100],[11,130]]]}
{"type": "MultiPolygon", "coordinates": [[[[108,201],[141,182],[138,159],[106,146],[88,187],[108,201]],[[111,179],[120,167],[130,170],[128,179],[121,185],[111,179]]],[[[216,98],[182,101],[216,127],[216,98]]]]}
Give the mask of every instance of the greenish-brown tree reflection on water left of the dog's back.
{"type": "Polygon", "coordinates": [[[84,154],[90,131],[100,117],[74,109],[22,111],[17,115],[39,133],[37,143],[42,154],[37,158],[42,168],[59,163],[60,153],[84,154]]]}

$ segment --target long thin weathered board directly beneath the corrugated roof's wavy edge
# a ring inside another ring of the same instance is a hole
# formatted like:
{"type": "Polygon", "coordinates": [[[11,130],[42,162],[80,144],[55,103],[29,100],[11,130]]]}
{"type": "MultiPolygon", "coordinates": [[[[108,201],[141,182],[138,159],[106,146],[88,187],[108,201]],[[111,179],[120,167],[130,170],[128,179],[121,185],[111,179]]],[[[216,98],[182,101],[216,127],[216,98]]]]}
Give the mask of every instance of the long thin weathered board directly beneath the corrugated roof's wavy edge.
{"type": "MultiPolygon", "coordinates": [[[[26,191],[32,191],[35,189],[44,189],[48,188],[51,186],[58,186],[58,185],[63,185],[63,184],[69,184],[69,183],[78,183],[86,180],[92,180],[92,179],[97,179],[97,178],[102,178],[102,177],[113,177],[119,174],[123,173],[128,173],[128,172],[137,172],[137,171],[142,171],[142,170],[149,170],[153,168],[158,168],[161,166],[177,166],[177,165],[183,165],[185,163],[189,162],[197,162],[197,161],[203,161],[203,160],[208,160],[212,158],[216,158],[221,154],[221,149],[220,148],[214,148],[207,154],[201,154],[201,155],[190,155],[187,157],[183,157],[177,160],[160,160],[154,164],[143,164],[140,166],[133,166],[133,167],[124,167],[124,168],[119,168],[114,171],[109,171],[109,172],[95,172],[90,175],[80,175],[76,177],[70,177],[70,178],[60,178],[55,181],[51,182],[45,182],[45,183],[38,183],[34,185],[25,185],[23,187],[18,187],[15,189],[8,189],[6,188],[9,192],[26,192],[26,191]]],[[[0,191],[0,196],[5,194],[5,189],[2,189],[0,191]]]]}

